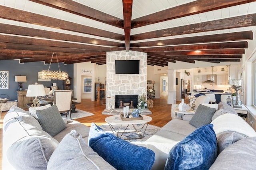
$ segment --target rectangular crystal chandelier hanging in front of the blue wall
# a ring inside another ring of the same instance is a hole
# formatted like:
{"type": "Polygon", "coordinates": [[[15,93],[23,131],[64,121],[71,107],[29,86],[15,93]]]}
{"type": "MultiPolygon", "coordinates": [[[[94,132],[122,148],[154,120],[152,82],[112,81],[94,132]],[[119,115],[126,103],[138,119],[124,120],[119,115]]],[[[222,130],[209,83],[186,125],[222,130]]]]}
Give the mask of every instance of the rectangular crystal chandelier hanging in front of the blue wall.
{"type": "Polygon", "coordinates": [[[59,62],[58,62],[58,57],[57,57],[57,53],[56,52],[52,53],[52,58],[53,58],[54,53],[56,54],[56,59],[57,59],[59,71],[52,71],[52,70],[50,70],[51,63],[52,63],[52,59],[51,59],[51,62],[50,62],[48,70],[40,71],[38,76],[39,76],[40,79],[44,79],[44,80],[47,80],[47,79],[51,79],[51,80],[66,80],[66,79],[68,79],[68,73],[66,73],[65,71],[60,71],[60,65],[59,65],[59,62]]]}

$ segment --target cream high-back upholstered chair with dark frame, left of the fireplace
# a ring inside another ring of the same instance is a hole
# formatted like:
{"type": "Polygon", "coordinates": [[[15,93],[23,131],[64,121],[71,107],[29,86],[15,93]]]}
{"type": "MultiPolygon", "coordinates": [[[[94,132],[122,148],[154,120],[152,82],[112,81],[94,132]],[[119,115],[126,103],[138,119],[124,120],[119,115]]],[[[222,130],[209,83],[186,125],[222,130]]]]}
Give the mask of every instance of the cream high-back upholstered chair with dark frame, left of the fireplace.
{"type": "Polygon", "coordinates": [[[69,113],[71,120],[73,90],[54,90],[54,105],[58,107],[60,113],[69,113]]]}

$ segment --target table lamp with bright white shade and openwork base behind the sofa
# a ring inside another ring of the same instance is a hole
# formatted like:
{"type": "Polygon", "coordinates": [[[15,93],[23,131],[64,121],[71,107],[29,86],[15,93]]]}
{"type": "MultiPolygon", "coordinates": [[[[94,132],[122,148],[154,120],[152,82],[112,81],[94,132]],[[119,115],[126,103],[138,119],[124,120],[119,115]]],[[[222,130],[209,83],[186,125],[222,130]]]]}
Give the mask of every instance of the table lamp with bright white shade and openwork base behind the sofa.
{"type": "Polygon", "coordinates": [[[44,91],[44,85],[28,85],[28,91],[26,97],[36,97],[33,100],[33,104],[31,107],[40,107],[39,99],[37,99],[38,96],[45,96],[45,91],[44,91]]]}

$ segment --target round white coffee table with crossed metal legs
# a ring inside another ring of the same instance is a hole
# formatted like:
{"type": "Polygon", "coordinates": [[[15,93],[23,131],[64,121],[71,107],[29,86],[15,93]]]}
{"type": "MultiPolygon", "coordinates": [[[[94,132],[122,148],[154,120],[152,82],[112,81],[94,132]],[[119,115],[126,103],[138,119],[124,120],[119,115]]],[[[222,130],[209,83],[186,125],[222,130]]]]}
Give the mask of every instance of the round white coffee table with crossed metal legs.
{"type": "MultiPolygon", "coordinates": [[[[152,121],[152,117],[146,116],[146,115],[141,115],[141,116],[143,117],[142,120],[122,121],[120,115],[113,115],[110,117],[106,117],[105,121],[110,126],[113,134],[116,134],[117,137],[118,137],[119,133],[121,133],[121,135],[120,135],[120,138],[121,138],[124,133],[136,132],[139,135],[139,138],[142,139],[143,135],[148,127],[148,122],[152,121]],[[144,125],[140,129],[137,129],[134,126],[136,124],[143,124],[143,123],[144,123],[144,125]],[[127,126],[124,130],[121,130],[121,127],[118,130],[115,130],[112,125],[127,125],[127,126]],[[132,125],[135,131],[127,130],[129,125],[132,125]],[[143,128],[144,128],[144,130],[143,130],[143,128]]],[[[138,139],[138,138],[126,138],[126,139],[138,139]]]]}

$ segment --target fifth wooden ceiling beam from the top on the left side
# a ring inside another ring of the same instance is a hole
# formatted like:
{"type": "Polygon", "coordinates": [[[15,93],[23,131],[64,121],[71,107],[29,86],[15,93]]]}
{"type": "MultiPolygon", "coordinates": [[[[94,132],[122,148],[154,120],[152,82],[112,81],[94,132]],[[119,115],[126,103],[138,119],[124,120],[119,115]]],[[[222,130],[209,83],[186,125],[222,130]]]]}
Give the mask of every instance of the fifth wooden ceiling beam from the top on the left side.
{"type": "Polygon", "coordinates": [[[6,43],[0,42],[0,48],[2,49],[20,49],[20,50],[31,50],[31,51],[48,51],[48,52],[64,52],[64,53],[94,53],[99,51],[86,50],[86,49],[75,49],[70,47],[50,47],[44,45],[30,45],[30,44],[19,44],[19,43],[6,43]]]}

